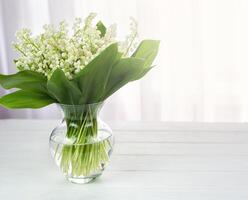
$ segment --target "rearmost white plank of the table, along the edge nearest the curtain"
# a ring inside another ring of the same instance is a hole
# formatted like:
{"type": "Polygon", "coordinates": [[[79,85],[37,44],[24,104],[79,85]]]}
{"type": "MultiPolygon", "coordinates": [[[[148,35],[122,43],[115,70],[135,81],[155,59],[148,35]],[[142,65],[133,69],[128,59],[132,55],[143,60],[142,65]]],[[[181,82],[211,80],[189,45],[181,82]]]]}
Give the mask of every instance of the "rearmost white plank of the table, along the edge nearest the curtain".
{"type": "MultiPolygon", "coordinates": [[[[61,120],[0,120],[0,133],[4,130],[52,130],[61,120]],[[14,126],[13,126],[14,124],[14,126]]],[[[193,122],[108,122],[113,130],[125,131],[239,131],[247,133],[248,123],[193,123],[193,122]]]]}

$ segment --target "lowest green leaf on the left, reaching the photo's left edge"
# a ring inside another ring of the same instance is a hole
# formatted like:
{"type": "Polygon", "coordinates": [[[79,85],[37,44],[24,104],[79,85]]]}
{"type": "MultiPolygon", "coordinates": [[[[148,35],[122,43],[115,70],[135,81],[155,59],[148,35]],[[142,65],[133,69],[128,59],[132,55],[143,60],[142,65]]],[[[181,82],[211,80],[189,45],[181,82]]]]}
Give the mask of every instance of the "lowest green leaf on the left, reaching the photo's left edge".
{"type": "Polygon", "coordinates": [[[0,98],[0,105],[5,108],[42,108],[54,102],[48,95],[24,90],[0,98]]]}

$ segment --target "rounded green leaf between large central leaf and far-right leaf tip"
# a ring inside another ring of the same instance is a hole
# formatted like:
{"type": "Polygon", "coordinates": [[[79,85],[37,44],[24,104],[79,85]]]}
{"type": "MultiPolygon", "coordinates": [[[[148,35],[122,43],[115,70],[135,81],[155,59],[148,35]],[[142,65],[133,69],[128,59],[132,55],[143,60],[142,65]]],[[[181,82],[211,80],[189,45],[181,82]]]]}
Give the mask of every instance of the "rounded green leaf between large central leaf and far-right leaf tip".
{"type": "Polygon", "coordinates": [[[143,70],[144,61],[139,58],[123,58],[112,68],[102,100],[112,95],[135,78],[143,70]]]}

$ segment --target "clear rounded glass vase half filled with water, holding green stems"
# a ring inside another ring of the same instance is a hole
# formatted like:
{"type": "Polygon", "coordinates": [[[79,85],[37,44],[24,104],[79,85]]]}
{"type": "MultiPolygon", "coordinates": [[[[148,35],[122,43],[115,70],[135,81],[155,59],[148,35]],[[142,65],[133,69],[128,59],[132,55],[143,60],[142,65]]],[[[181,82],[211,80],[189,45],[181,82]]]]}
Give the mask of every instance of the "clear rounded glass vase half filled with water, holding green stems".
{"type": "Polygon", "coordinates": [[[50,136],[50,151],[65,177],[88,183],[100,176],[113,150],[112,130],[98,117],[102,103],[62,105],[64,118],[50,136]]]}

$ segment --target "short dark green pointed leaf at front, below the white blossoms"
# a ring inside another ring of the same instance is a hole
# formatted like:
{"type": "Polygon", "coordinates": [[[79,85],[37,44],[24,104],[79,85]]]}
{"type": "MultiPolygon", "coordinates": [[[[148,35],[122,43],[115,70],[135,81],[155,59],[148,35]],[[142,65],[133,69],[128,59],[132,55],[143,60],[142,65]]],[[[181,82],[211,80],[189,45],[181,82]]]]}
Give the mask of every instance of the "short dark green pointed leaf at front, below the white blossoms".
{"type": "Polygon", "coordinates": [[[69,81],[61,69],[56,69],[47,82],[48,91],[61,104],[78,105],[81,92],[73,82],[69,81]]]}

